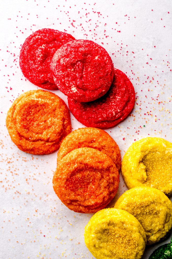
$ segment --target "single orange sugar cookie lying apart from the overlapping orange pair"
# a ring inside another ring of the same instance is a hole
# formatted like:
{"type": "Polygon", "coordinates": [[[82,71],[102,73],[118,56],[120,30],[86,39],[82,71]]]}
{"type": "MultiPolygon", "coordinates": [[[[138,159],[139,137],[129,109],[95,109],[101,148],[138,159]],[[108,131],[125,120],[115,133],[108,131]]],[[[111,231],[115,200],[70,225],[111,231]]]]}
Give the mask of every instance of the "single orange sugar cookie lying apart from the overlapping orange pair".
{"type": "Polygon", "coordinates": [[[10,107],[6,127],[11,140],[24,152],[43,155],[57,150],[71,132],[70,114],[64,101],[44,90],[20,95],[10,107]]]}

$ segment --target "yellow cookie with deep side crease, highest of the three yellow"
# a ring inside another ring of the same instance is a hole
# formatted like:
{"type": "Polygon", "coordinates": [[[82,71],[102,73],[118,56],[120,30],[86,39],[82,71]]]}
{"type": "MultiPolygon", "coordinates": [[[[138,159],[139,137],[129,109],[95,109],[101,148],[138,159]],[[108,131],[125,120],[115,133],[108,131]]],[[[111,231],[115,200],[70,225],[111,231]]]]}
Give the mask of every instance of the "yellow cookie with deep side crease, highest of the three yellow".
{"type": "Polygon", "coordinates": [[[172,194],[172,143],[162,138],[134,142],[122,160],[122,176],[129,189],[149,186],[172,194]]]}

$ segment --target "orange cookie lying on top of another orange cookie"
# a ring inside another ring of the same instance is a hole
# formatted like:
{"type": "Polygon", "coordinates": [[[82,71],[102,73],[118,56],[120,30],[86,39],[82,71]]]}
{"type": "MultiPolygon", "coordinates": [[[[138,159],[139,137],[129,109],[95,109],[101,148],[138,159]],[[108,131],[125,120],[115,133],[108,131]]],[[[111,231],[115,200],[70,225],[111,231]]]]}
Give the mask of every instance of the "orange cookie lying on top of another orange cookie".
{"type": "Polygon", "coordinates": [[[111,158],[94,148],[78,148],[57,164],[53,188],[70,209],[94,213],[116,195],[119,173],[111,158]]]}

